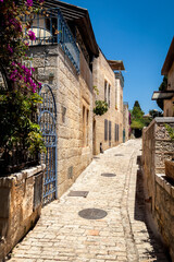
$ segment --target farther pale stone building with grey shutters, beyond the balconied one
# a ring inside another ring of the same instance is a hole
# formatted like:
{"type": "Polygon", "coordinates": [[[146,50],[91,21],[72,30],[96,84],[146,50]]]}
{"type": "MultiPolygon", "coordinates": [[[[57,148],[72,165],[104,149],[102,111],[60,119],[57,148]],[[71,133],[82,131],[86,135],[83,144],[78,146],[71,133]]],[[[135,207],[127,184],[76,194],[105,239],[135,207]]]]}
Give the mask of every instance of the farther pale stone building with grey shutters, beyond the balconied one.
{"type": "Polygon", "coordinates": [[[100,50],[92,66],[94,86],[99,92],[95,100],[104,100],[109,106],[103,116],[94,116],[94,154],[97,155],[123,142],[124,78],[119,70],[124,70],[124,64],[123,61],[107,60],[100,50]]]}

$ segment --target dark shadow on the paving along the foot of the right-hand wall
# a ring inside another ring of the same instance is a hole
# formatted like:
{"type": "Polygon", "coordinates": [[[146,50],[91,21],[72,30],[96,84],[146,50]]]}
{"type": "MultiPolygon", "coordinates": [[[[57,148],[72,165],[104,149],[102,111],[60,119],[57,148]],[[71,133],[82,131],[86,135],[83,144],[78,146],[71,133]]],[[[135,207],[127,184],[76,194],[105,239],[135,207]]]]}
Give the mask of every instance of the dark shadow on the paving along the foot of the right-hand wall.
{"type": "MultiPolygon", "coordinates": [[[[135,211],[134,211],[134,218],[135,221],[140,221],[146,224],[147,231],[149,234],[149,239],[145,237],[141,238],[142,245],[149,242],[152,247],[152,250],[146,249],[142,257],[151,257],[152,260],[145,260],[145,261],[158,261],[158,262],[172,262],[169,252],[164,249],[161,240],[154,235],[152,229],[149,226],[148,216],[147,216],[147,209],[146,209],[146,201],[145,201],[145,192],[144,192],[144,176],[141,170],[141,156],[137,157],[137,180],[136,180],[136,200],[135,200],[135,211]],[[154,259],[153,259],[154,258],[154,259]]],[[[150,200],[147,200],[147,202],[150,200]]],[[[145,230],[140,230],[140,234],[146,233],[145,230]]],[[[144,261],[144,260],[141,260],[144,261]]]]}

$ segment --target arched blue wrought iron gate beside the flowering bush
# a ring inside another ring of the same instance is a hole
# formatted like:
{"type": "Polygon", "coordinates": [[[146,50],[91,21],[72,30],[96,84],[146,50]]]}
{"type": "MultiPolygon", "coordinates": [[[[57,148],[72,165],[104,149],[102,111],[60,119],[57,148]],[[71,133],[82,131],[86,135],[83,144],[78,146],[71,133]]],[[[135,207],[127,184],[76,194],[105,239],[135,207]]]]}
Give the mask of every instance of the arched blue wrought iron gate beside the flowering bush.
{"type": "Polygon", "coordinates": [[[48,84],[40,90],[42,104],[39,107],[38,123],[40,126],[47,152],[40,155],[41,164],[46,164],[44,178],[44,205],[57,198],[57,105],[54,95],[48,84]]]}

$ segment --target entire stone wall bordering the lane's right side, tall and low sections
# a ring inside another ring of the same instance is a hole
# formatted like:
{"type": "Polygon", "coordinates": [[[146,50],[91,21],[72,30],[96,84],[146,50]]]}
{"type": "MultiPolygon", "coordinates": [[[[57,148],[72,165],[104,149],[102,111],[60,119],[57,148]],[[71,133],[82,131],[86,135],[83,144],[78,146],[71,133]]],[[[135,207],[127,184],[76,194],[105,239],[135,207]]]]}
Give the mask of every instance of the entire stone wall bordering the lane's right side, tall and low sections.
{"type": "Polygon", "coordinates": [[[174,118],[156,118],[142,132],[142,165],[149,211],[174,261],[174,187],[165,177],[165,160],[172,159],[174,143],[164,127],[174,118]]]}

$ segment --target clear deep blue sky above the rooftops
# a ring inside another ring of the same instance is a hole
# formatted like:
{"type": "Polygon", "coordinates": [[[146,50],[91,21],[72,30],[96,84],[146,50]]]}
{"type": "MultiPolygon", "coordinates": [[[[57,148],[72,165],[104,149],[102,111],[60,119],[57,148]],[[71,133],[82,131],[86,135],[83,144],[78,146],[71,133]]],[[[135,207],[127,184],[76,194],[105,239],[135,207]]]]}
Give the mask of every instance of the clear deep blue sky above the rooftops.
{"type": "Polygon", "coordinates": [[[132,109],[158,109],[151,100],[162,82],[161,69],[174,36],[173,0],[64,0],[89,11],[96,39],[104,56],[123,60],[124,100],[132,109]]]}

